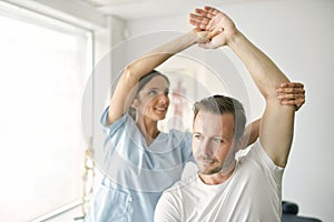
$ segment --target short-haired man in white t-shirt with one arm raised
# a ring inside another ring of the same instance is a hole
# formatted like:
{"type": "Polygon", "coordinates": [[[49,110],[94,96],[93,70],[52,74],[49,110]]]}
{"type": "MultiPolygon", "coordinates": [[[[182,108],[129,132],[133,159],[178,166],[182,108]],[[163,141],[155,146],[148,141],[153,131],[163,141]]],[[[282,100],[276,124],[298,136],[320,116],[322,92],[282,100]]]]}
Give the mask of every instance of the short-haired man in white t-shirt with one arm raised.
{"type": "Polygon", "coordinates": [[[240,159],[246,118],[235,99],[215,95],[195,103],[193,155],[198,174],[164,192],[155,221],[281,221],[282,176],[293,140],[294,107],[282,105],[276,89],[288,79],[225,13],[205,7],[189,21],[217,34],[203,48],[229,47],[265,98],[259,139],[240,159]]]}

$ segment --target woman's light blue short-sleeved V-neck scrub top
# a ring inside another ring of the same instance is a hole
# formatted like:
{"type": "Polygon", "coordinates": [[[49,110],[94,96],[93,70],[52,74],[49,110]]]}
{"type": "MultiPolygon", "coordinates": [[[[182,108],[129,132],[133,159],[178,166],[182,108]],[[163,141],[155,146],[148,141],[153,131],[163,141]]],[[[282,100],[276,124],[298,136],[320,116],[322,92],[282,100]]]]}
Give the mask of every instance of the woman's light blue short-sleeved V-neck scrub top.
{"type": "Polygon", "coordinates": [[[106,127],[108,111],[101,118],[107,138],[99,168],[105,176],[85,221],[153,222],[163,191],[178,181],[185,164],[193,161],[191,133],[160,132],[147,145],[127,113],[106,127]]]}

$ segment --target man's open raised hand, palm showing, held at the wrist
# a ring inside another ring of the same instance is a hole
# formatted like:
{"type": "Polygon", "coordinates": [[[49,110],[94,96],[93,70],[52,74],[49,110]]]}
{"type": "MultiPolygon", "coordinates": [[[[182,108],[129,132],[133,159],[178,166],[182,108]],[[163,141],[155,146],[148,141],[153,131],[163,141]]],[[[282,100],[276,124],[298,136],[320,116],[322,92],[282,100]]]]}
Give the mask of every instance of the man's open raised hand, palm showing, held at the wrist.
{"type": "Polygon", "coordinates": [[[197,29],[213,33],[209,42],[199,43],[200,47],[206,49],[228,44],[229,39],[238,31],[230,18],[210,7],[196,9],[195,13],[189,14],[189,23],[197,29]]]}

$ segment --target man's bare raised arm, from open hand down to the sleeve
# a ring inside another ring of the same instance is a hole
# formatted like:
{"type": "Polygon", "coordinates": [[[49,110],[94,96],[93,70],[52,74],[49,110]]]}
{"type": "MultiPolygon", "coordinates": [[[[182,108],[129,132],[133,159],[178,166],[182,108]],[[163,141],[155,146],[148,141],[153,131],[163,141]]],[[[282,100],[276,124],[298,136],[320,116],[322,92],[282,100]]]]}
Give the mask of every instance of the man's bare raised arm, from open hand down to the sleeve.
{"type": "Polygon", "coordinates": [[[282,105],[276,98],[276,89],[288,82],[286,75],[257,47],[255,47],[225,13],[205,7],[196,9],[189,21],[197,28],[218,32],[203,48],[228,46],[248,69],[261,93],[266,100],[266,108],[259,127],[259,140],[279,167],[285,167],[293,140],[294,107],[282,105]]]}

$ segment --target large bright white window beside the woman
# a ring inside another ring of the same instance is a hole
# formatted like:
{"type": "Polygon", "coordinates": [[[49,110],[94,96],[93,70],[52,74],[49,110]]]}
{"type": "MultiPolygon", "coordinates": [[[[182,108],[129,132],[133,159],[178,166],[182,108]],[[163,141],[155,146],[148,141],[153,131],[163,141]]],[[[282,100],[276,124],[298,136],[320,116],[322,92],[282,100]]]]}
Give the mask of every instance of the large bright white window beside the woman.
{"type": "Polygon", "coordinates": [[[82,195],[91,33],[17,12],[0,6],[0,221],[29,221],[82,195]]]}

